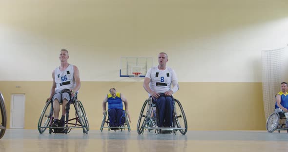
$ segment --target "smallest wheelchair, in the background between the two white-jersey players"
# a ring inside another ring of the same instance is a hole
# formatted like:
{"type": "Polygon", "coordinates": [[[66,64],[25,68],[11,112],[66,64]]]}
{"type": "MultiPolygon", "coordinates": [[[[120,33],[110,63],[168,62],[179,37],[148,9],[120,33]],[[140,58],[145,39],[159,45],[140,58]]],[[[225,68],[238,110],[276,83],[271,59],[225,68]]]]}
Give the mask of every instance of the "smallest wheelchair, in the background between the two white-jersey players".
{"type": "MultiPolygon", "coordinates": [[[[103,119],[102,119],[102,124],[101,124],[101,128],[100,128],[100,131],[102,132],[103,131],[103,128],[108,128],[108,132],[110,132],[111,129],[120,129],[121,132],[123,129],[128,129],[128,132],[130,132],[130,124],[129,124],[129,121],[128,121],[128,115],[126,113],[126,111],[124,111],[125,113],[125,122],[124,124],[121,126],[121,127],[110,127],[109,126],[109,116],[107,118],[107,121],[106,121],[106,117],[108,115],[108,112],[106,111],[105,114],[103,114],[103,119]],[[107,127],[104,127],[105,123],[107,123],[107,127]],[[124,127],[124,126],[127,126],[127,127],[124,127]]],[[[115,132],[117,130],[114,130],[115,132]]]]}

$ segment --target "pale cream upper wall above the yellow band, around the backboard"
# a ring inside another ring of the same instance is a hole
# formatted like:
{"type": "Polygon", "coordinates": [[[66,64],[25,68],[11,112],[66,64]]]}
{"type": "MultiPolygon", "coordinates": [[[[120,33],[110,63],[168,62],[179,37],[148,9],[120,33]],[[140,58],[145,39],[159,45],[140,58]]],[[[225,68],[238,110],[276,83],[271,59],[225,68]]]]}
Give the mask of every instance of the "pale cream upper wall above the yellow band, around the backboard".
{"type": "Polygon", "coordinates": [[[82,81],[130,81],[121,56],[156,65],[166,52],[182,82],[261,82],[261,50],[288,44],[287,10],[287,0],[2,0],[0,80],[50,81],[67,48],[82,81]]]}

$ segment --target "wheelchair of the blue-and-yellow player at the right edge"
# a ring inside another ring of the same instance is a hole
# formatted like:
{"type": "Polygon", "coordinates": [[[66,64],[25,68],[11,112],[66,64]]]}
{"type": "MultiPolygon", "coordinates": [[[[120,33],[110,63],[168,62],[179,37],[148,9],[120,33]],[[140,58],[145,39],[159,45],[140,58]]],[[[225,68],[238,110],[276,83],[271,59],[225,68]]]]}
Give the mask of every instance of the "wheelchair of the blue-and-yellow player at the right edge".
{"type": "Polygon", "coordinates": [[[266,121],[266,130],[268,133],[273,133],[275,130],[280,133],[281,130],[287,130],[288,126],[285,124],[286,117],[284,113],[272,113],[269,115],[266,121]]]}

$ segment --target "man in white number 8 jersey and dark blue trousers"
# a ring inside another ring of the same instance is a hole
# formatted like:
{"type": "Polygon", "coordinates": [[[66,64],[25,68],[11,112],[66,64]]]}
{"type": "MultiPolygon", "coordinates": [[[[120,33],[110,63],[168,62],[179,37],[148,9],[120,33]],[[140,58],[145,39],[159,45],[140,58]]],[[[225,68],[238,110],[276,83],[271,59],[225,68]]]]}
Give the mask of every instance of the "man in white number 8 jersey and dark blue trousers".
{"type": "Polygon", "coordinates": [[[158,55],[159,65],[148,70],[143,87],[159,110],[158,127],[172,126],[172,112],[174,109],[174,99],[172,94],[178,90],[178,81],[175,71],[166,66],[168,56],[161,52],[158,55]],[[171,88],[171,84],[173,87],[171,88]]]}

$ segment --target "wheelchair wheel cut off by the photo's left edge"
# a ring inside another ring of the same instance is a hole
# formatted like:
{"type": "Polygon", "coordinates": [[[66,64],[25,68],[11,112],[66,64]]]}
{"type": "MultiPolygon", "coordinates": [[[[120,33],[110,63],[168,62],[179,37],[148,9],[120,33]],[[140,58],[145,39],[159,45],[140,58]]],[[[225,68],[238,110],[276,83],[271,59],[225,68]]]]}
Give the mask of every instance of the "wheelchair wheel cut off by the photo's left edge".
{"type": "Polygon", "coordinates": [[[0,139],[3,137],[6,131],[7,115],[5,110],[5,102],[3,95],[0,92],[0,111],[1,111],[1,121],[0,121],[0,139]]]}

